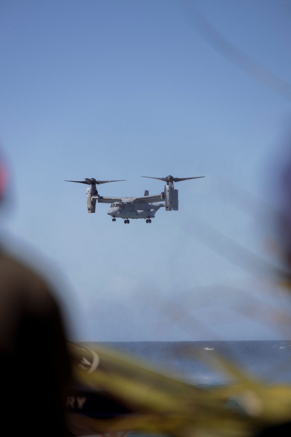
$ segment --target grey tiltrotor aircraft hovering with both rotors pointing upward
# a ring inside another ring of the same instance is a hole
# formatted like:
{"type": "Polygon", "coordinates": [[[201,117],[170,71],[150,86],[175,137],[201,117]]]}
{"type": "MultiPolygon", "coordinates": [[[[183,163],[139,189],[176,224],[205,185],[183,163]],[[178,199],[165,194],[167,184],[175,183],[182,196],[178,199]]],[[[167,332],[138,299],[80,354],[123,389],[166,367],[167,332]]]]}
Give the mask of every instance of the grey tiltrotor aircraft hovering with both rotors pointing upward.
{"type": "Polygon", "coordinates": [[[113,222],[116,222],[116,218],[123,218],[124,223],[129,223],[130,218],[144,218],[147,223],[151,223],[151,219],[154,218],[155,213],[161,207],[164,207],[166,211],[178,211],[178,190],[174,188],[174,182],[199,179],[200,177],[204,176],[182,178],[173,176],[149,177],[150,179],[164,180],[164,182],[166,182],[164,191],[161,194],[149,196],[146,190],[142,197],[105,197],[98,194],[96,185],[106,184],[108,182],[120,182],[121,180],[96,180],[91,177],[91,179],[66,180],[66,182],[78,182],[79,184],[89,185],[87,188],[88,212],[95,212],[96,201],[98,203],[111,203],[107,214],[112,217],[113,222]]]}

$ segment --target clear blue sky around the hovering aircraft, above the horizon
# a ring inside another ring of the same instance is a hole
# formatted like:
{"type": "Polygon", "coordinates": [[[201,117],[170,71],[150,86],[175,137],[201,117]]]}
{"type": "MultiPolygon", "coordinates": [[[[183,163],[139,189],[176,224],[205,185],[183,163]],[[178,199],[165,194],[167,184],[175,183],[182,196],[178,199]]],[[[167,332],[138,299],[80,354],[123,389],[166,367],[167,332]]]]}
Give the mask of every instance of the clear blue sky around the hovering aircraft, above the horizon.
{"type": "MultiPolygon", "coordinates": [[[[290,1],[195,4],[240,50],[290,79],[290,1]]],[[[250,286],[252,272],[213,250],[196,218],[264,254],[260,216],[245,208],[241,189],[269,200],[291,102],[213,49],[183,5],[0,4],[0,141],[10,168],[3,233],[58,283],[78,339],[284,336],[238,316],[234,297],[219,291],[260,287],[250,286]],[[140,176],[168,174],[205,179],[177,184],[179,211],[160,210],[151,225],[113,223],[102,204],[89,215],[86,187],[64,182],[126,179],[100,194],[137,196],[164,189],[140,176]],[[183,305],[185,293],[193,297],[188,316],[199,320],[187,332],[163,309],[183,305]]]]}

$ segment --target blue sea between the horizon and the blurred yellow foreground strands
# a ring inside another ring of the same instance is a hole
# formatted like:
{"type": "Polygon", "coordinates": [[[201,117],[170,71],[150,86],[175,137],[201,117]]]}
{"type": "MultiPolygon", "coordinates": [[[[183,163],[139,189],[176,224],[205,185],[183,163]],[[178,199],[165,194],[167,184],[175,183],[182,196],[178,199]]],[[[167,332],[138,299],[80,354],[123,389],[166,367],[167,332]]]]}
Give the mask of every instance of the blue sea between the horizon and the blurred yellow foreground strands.
{"type": "MultiPolygon", "coordinates": [[[[92,344],[92,343],[91,343],[92,344]]],[[[94,344],[94,343],[93,343],[94,344]]],[[[217,353],[270,383],[291,383],[291,340],[96,342],[174,372],[195,385],[227,384],[229,379],[198,355],[217,353]],[[196,355],[196,357],[195,357],[196,355]]]]}

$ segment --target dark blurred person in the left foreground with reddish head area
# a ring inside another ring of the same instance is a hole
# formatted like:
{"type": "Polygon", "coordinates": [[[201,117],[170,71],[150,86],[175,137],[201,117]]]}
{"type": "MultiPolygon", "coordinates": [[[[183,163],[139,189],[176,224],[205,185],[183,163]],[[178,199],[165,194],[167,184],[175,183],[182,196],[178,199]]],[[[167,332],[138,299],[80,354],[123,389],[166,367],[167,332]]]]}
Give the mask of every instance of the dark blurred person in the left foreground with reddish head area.
{"type": "MultiPolygon", "coordinates": [[[[6,181],[0,159],[0,201],[6,181]]],[[[0,247],[0,411],[10,436],[65,436],[70,363],[50,287],[0,247]]]]}

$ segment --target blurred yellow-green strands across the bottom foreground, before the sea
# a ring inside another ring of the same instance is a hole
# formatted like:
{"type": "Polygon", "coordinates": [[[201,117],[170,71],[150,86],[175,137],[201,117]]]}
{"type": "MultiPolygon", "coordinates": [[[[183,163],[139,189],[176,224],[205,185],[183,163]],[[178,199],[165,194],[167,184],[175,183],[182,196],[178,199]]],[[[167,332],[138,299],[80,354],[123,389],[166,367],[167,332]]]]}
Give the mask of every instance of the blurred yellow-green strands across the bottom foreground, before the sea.
{"type": "MultiPolygon", "coordinates": [[[[223,358],[202,360],[229,375],[224,388],[198,388],[142,361],[102,346],[71,344],[79,397],[68,398],[68,427],[75,435],[143,430],[175,436],[253,436],[268,425],[291,420],[291,388],[267,386],[223,358]],[[124,407],[106,418],[86,407],[86,390],[124,407]],[[81,393],[81,392],[80,392],[81,393]],[[75,402],[78,401],[78,402],[75,402]],[[229,406],[234,401],[236,408],[229,406]]],[[[196,355],[196,351],[193,350],[196,355]]]]}

